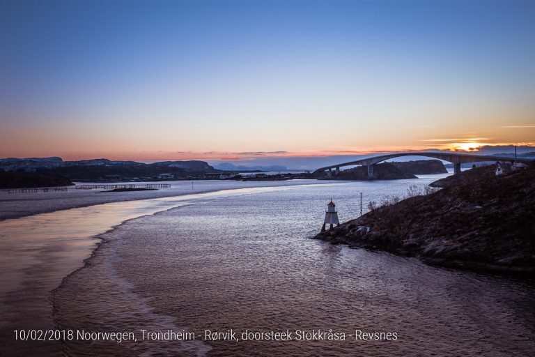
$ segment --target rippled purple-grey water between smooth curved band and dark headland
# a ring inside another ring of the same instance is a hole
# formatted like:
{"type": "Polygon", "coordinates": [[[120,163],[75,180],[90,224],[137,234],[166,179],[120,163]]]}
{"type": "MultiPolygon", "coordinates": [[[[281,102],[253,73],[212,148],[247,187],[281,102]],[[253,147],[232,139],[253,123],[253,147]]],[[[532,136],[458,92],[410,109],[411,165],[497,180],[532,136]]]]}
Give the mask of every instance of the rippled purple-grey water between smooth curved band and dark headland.
{"type": "Polygon", "coordinates": [[[330,198],[344,221],[357,215],[359,192],[365,192],[366,206],[370,199],[403,195],[414,183],[247,188],[159,199],[164,208],[155,211],[160,213],[102,234],[104,243],[84,268],[51,295],[56,328],[171,328],[199,337],[205,329],[330,328],[350,334],[359,328],[396,332],[396,341],[348,336],[334,342],[144,341],[91,347],[67,342],[59,351],[68,356],[534,356],[531,282],[310,239],[330,198]],[[166,205],[175,208],[164,211],[166,205]]]}

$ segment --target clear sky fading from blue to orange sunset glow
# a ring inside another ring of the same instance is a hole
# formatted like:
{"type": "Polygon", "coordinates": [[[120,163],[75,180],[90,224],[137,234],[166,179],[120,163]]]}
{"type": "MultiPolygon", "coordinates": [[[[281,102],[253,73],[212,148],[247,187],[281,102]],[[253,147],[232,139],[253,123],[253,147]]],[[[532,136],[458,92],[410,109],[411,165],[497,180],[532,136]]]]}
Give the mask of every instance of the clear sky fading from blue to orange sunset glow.
{"type": "Polygon", "coordinates": [[[534,19],[533,0],[0,0],[0,157],[533,145],[534,19]]]}

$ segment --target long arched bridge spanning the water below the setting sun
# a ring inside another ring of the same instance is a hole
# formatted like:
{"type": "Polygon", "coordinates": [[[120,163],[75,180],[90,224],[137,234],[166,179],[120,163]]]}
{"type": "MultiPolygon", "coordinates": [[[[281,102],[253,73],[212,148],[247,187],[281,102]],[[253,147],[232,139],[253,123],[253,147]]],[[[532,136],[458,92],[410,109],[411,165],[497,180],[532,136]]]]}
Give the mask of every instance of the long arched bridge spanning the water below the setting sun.
{"type": "Polygon", "coordinates": [[[336,169],[336,174],[340,173],[340,167],[344,166],[366,166],[368,168],[368,177],[373,178],[373,165],[378,162],[389,160],[392,158],[398,158],[400,156],[426,156],[428,158],[435,158],[439,160],[449,161],[453,163],[453,173],[458,174],[460,172],[460,164],[465,162],[478,162],[478,161],[499,161],[499,162],[532,162],[533,160],[525,158],[504,158],[502,156],[493,156],[493,155],[474,155],[470,153],[442,153],[442,152],[427,152],[427,151],[408,151],[403,153],[388,153],[385,155],[372,156],[371,158],[364,158],[360,160],[354,160],[349,162],[343,162],[337,165],[320,167],[314,174],[319,174],[320,172],[325,172],[332,169],[336,169]]]}

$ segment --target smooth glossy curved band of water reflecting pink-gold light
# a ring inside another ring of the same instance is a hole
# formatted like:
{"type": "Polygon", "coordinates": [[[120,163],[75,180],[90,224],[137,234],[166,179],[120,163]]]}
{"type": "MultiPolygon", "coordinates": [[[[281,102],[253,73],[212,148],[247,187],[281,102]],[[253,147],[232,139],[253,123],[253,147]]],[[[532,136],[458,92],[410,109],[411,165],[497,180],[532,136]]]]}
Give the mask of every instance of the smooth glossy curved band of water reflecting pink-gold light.
{"type": "MultiPolygon", "coordinates": [[[[290,187],[288,187],[290,188],[290,187]]],[[[40,213],[0,222],[0,349],[10,356],[59,351],[56,341],[13,343],[14,330],[54,328],[51,291],[84,266],[99,234],[122,222],[220,195],[244,195],[279,188],[238,188],[178,197],[113,202],[40,213]]]]}

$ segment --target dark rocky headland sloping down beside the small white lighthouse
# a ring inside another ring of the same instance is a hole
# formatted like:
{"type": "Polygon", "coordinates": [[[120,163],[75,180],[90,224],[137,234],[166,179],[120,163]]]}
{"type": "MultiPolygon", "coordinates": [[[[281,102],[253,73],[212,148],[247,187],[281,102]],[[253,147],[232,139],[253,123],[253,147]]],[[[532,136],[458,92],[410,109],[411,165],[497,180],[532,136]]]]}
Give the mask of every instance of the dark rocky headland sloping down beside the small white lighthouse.
{"type": "Polygon", "coordinates": [[[500,176],[479,167],[434,185],[442,189],[393,199],[315,238],[450,268],[535,273],[534,165],[500,176]]]}

